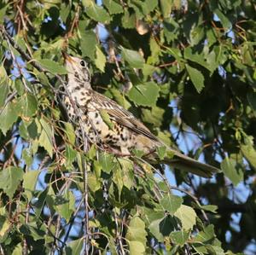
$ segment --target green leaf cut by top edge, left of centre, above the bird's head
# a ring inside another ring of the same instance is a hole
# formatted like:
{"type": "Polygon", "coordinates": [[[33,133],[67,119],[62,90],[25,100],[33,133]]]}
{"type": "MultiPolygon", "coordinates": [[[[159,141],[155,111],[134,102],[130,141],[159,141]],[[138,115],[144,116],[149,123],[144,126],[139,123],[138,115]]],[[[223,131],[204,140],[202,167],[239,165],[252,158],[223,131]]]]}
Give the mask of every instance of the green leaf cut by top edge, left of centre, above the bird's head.
{"type": "Polygon", "coordinates": [[[111,20],[106,9],[103,9],[102,6],[98,6],[93,1],[87,1],[85,12],[92,20],[98,22],[108,23],[111,20]]]}

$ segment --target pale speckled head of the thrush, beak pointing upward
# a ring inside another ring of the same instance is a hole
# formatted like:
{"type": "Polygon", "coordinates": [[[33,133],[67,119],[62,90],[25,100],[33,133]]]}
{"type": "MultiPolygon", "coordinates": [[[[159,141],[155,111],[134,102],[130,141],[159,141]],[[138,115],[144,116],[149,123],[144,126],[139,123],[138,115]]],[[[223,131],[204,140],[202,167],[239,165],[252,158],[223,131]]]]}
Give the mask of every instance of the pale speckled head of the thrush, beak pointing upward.
{"type": "Polygon", "coordinates": [[[62,55],[65,59],[68,82],[83,83],[85,87],[88,87],[90,84],[88,63],[78,57],[67,55],[67,53],[64,52],[62,52],[62,55]]]}

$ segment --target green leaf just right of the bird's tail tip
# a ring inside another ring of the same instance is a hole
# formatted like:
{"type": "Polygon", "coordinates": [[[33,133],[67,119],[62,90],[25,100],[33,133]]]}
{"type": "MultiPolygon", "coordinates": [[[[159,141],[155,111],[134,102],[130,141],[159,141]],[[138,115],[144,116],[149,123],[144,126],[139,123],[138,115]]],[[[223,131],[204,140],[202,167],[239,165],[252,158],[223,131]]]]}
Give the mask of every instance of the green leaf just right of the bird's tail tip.
{"type": "Polygon", "coordinates": [[[236,168],[235,159],[226,157],[220,164],[221,170],[224,175],[230,179],[230,181],[236,186],[243,180],[243,172],[241,168],[236,168]]]}

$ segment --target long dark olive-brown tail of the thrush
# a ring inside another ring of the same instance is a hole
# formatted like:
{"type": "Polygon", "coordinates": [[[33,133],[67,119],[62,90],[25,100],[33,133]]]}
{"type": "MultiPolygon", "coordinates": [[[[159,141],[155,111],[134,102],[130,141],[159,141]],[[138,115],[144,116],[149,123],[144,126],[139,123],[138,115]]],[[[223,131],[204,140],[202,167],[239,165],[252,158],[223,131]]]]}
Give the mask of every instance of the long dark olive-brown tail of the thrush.
{"type": "Polygon", "coordinates": [[[173,157],[166,157],[163,161],[165,164],[183,171],[189,171],[200,177],[212,177],[212,174],[220,172],[217,167],[201,163],[195,159],[191,159],[176,150],[169,148],[173,157]]]}

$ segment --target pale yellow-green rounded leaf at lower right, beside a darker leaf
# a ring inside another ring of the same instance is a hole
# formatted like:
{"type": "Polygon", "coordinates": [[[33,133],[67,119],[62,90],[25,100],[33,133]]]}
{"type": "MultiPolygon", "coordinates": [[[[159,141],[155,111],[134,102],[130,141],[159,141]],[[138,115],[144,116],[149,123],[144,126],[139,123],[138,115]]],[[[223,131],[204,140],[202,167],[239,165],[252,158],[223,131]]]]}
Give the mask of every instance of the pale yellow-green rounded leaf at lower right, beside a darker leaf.
{"type": "Polygon", "coordinates": [[[193,229],[196,213],[192,207],[182,205],[177,209],[177,212],[175,212],[174,215],[181,221],[183,229],[193,229]]]}

